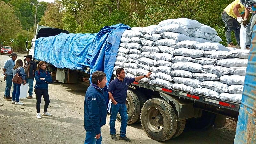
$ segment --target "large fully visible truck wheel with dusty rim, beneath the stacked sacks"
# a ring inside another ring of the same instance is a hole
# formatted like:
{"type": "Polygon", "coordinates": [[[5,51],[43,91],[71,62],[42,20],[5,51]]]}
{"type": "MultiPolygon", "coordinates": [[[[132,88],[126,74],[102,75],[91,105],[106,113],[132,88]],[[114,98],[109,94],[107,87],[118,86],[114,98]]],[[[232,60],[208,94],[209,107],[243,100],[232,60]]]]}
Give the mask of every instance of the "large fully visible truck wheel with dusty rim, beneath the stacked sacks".
{"type": "Polygon", "coordinates": [[[141,125],[153,140],[172,138],[177,129],[177,116],[172,106],[159,98],[146,101],[141,109],[141,125]]]}

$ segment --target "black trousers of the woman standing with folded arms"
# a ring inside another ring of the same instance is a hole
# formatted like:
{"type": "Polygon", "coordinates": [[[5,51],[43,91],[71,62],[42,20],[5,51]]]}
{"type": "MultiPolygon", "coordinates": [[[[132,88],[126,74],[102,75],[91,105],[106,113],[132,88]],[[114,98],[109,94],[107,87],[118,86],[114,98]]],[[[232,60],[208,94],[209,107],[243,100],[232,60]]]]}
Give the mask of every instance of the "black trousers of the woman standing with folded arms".
{"type": "Polygon", "coordinates": [[[40,113],[40,104],[41,104],[42,95],[43,95],[44,102],[45,102],[44,112],[47,112],[47,108],[50,103],[48,89],[36,89],[35,88],[34,92],[36,94],[36,112],[40,113]]]}

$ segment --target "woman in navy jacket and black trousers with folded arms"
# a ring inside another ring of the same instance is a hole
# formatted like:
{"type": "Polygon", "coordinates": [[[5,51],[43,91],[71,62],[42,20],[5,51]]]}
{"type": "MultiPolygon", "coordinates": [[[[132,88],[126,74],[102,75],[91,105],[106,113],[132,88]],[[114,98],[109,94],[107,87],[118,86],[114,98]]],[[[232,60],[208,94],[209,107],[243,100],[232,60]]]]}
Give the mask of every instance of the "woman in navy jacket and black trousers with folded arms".
{"type": "Polygon", "coordinates": [[[47,112],[47,108],[50,103],[49,94],[48,94],[48,84],[52,82],[52,77],[48,71],[46,71],[46,63],[40,61],[37,66],[37,71],[35,72],[36,85],[34,92],[36,94],[36,118],[40,119],[40,104],[42,95],[44,98],[44,112],[43,116],[52,116],[52,114],[47,112]]]}

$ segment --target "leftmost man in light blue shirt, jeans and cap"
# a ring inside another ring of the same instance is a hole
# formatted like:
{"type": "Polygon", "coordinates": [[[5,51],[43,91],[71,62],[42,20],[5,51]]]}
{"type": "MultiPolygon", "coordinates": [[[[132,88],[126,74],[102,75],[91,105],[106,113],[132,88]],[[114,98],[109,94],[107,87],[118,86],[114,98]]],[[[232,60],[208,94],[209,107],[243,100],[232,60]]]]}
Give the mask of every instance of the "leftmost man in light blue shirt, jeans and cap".
{"type": "Polygon", "coordinates": [[[15,65],[15,60],[17,59],[17,56],[18,55],[16,53],[11,53],[10,59],[8,59],[4,62],[3,74],[4,74],[4,80],[6,83],[4,99],[7,101],[12,100],[12,97],[10,97],[10,91],[11,91],[11,87],[12,87],[12,70],[15,65]]]}

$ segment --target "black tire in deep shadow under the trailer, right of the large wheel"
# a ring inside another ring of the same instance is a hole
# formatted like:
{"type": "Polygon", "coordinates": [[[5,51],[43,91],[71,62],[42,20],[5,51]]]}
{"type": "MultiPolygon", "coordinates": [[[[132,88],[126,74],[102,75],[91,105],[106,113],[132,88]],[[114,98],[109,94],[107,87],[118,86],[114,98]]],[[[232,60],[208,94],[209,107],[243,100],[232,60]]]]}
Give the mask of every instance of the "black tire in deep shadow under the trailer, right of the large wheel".
{"type": "Polygon", "coordinates": [[[216,114],[202,110],[201,117],[189,118],[186,123],[191,129],[206,129],[214,123],[215,117],[216,114]]]}

